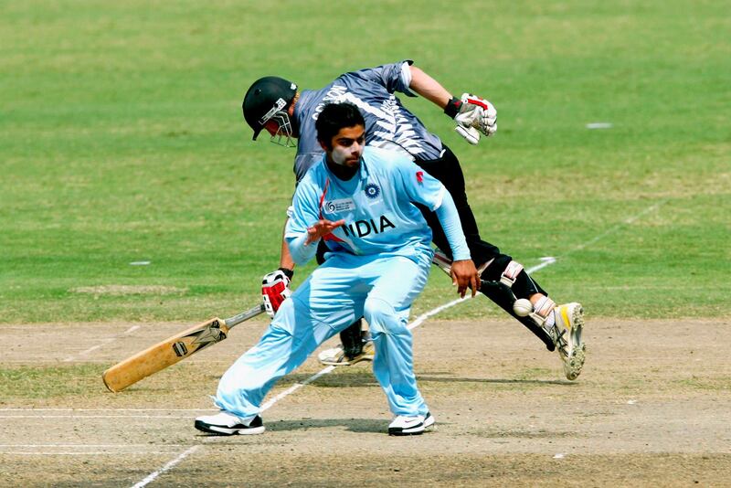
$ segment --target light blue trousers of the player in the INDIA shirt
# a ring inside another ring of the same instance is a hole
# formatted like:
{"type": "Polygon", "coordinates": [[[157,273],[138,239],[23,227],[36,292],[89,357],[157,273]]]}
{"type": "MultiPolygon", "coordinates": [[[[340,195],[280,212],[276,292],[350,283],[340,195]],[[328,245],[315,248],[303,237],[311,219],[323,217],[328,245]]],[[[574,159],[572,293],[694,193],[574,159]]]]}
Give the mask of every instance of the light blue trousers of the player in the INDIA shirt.
{"type": "Polygon", "coordinates": [[[376,356],[373,372],[396,415],[424,415],[407,328],[411,303],[429,277],[403,257],[334,254],[281,304],[259,344],[240,356],[218,383],[216,404],[241,418],[260,413],[271,387],[294,371],[325,340],[365,317],[376,356]]]}

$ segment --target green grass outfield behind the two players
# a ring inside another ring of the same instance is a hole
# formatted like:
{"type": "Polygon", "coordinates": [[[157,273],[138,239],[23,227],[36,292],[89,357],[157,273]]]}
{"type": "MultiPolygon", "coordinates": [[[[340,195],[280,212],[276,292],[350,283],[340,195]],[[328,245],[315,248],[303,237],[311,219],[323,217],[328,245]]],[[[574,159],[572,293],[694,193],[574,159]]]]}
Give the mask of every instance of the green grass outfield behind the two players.
{"type": "MultiPolygon", "coordinates": [[[[3,2],[0,322],[248,308],[278,265],[294,151],[250,141],[244,91],[403,58],[497,106],[496,137],[471,147],[407,101],[460,156],[483,238],[526,267],[558,258],[535,273],[556,300],[727,317],[727,14],[659,0],[3,2]]],[[[415,312],[450,292],[432,273],[415,312]]]]}

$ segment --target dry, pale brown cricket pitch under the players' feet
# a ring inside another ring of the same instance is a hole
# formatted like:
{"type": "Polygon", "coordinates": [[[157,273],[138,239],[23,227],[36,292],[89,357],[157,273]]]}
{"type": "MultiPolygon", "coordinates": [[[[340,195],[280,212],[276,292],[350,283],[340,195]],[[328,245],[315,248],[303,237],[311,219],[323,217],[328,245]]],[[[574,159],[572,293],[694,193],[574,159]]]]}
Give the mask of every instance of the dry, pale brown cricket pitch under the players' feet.
{"type": "MultiPolygon", "coordinates": [[[[575,382],[517,323],[428,321],[414,330],[415,368],[437,429],[406,438],[386,434],[367,363],[281,398],[263,435],[194,430],[263,321],[122,393],[105,389],[107,366],[189,325],[0,327],[0,484],[731,484],[727,320],[588,316],[575,382]]],[[[311,358],[269,398],[322,369],[311,358]]]]}

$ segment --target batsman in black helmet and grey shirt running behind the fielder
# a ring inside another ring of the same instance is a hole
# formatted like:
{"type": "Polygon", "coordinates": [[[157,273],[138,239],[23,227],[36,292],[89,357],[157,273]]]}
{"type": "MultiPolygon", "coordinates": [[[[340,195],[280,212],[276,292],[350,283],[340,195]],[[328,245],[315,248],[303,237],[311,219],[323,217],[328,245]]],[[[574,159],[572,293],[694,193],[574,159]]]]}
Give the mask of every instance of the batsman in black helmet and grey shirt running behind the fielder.
{"type": "MultiPolygon", "coordinates": [[[[464,175],[457,156],[408,111],[396,92],[410,97],[418,94],[432,101],[454,119],[455,130],[468,143],[477,144],[481,134],[489,137],[497,131],[497,112],[492,103],[469,93],[461,98],[453,97],[439,82],[413,66],[411,60],[345,73],[319,90],[298,90],[291,81],[262,78],[247,91],[243,112],[254,131],[254,139],[261,131],[267,131],[272,141],[291,146],[292,138],[297,138],[294,173],[299,181],[308,168],[322,158],[323,150],[314,135],[314,125],[324,104],[343,101],[355,104],[365,117],[367,145],[400,151],[446,186],[460,215],[472,260],[479,268],[485,268],[482,280],[490,283],[490,286],[482,286],[481,292],[537,335],[549,351],[557,350],[566,377],[576,379],[584,365],[585,352],[581,340],[584,323],[581,305],[577,302],[556,305],[519,262],[482,240],[467,202],[464,175]],[[521,306],[517,307],[516,302],[521,306]]],[[[545,185],[545,182],[536,183],[545,185]]],[[[440,219],[428,209],[422,210],[434,243],[451,258],[440,219]]],[[[282,246],[280,269],[265,276],[262,287],[264,301],[272,315],[289,293],[293,269],[289,251],[282,246]]],[[[360,329],[358,323],[341,333],[343,347],[324,352],[322,362],[352,364],[368,358],[360,329]]]]}

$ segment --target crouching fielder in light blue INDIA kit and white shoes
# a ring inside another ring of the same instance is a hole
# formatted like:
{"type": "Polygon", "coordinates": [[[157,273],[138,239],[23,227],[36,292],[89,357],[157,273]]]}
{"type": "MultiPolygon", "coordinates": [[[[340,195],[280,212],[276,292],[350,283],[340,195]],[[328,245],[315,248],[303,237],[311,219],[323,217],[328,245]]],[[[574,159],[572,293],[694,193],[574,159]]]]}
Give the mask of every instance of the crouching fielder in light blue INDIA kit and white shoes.
{"type": "Polygon", "coordinates": [[[439,217],[464,296],[480,286],[449,192],[401,154],[364,148],[365,121],[350,103],[323,106],[316,123],[325,152],[294,193],[284,239],[294,262],[324,263],[281,303],[258,345],[221,377],[221,413],[196,419],[216,434],[264,430],[260,404],[276,381],[302,365],[323,341],[365,317],[376,354],[373,372],[395,419],[391,435],[420,434],[434,423],[413,371],[411,303],[429,276],[431,230],[415,204],[439,217]]]}

